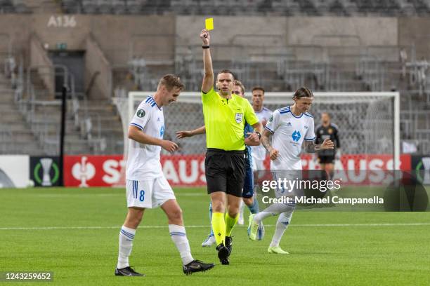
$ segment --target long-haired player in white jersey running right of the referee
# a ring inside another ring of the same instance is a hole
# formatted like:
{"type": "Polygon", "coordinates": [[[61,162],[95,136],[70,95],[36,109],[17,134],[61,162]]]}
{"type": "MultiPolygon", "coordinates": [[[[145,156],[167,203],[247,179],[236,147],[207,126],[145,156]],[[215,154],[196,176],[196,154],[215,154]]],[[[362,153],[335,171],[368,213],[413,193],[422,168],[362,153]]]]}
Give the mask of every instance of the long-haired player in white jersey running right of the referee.
{"type": "MultiPolygon", "coordinates": [[[[315,144],[314,142],[313,116],[308,114],[313,101],[311,90],[305,87],[299,88],[294,93],[293,100],[294,104],[291,107],[280,108],[273,112],[273,116],[266,124],[266,130],[261,136],[261,144],[267,149],[271,158],[271,171],[274,179],[276,179],[275,176],[280,171],[282,171],[280,173],[284,174],[286,179],[301,177],[300,154],[302,145],[308,153],[334,148],[334,144],[330,139],[325,139],[323,144],[315,144]],[[269,135],[273,135],[272,144],[269,141],[269,135]]],[[[284,195],[284,191],[283,189],[277,189],[275,194],[280,197],[284,195]]],[[[295,203],[275,204],[259,212],[259,214],[250,216],[249,238],[256,240],[258,226],[263,219],[280,214],[268,252],[288,254],[288,252],[280,248],[279,243],[291,221],[295,207],[295,203]]]]}

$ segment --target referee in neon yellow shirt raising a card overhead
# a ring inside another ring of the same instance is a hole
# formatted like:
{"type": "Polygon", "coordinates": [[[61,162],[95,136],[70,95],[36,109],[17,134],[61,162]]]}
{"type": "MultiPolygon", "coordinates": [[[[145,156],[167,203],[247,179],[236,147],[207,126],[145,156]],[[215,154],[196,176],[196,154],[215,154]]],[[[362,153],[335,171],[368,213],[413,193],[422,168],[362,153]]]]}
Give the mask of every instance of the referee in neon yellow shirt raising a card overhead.
{"type": "Polygon", "coordinates": [[[245,121],[254,128],[248,138],[256,144],[259,144],[262,127],[248,100],[231,93],[235,80],[231,71],[219,72],[216,76],[219,92],[214,90],[209,31],[203,29],[200,38],[203,41],[202,104],[207,145],[204,168],[207,192],[212,201],[211,224],[219,260],[221,264],[229,264],[231,231],[239,217],[245,180],[245,121]]]}

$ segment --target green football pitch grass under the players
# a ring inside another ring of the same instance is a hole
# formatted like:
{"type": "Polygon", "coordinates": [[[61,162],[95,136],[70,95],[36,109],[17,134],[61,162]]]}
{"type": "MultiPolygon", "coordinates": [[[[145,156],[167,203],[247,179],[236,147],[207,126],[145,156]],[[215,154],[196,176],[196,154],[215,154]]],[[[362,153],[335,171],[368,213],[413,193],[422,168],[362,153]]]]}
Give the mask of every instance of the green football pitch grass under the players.
{"type": "Polygon", "coordinates": [[[221,266],[214,247],[200,246],[209,233],[205,189],[175,192],[193,256],[216,263],[211,271],[183,274],[158,208],[145,212],[130,257],[146,277],[116,277],[124,189],[32,188],[0,189],[0,272],[53,272],[53,282],[37,285],[430,284],[429,212],[299,210],[281,241],[289,255],[267,253],[271,217],[262,241],[249,240],[246,227],[237,226],[230,266],[221,266]]]}

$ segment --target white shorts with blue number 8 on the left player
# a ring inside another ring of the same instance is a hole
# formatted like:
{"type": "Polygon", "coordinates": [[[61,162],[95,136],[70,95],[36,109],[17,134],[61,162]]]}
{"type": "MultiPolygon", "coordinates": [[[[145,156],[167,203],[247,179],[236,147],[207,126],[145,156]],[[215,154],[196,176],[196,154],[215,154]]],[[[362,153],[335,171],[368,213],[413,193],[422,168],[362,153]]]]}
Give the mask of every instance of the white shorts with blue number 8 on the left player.
{"type": "Polygon", "coordinates": [[[145,181],[127,179],[127,207],[154,208],[167,200],[175,200],[175,194],[164,176],[145,181]]]}

